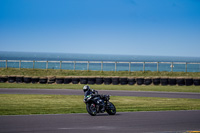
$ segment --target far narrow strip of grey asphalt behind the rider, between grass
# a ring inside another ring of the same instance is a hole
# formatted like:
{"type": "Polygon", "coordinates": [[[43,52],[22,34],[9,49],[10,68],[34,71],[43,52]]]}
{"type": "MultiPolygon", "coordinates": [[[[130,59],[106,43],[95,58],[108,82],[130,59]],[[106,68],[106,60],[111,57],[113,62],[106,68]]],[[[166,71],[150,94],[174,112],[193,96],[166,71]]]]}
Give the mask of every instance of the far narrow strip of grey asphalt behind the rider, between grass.
{"type": "MultiPolygon", "coordinates": [[[[137,97],[166,97],[166,98],[193,98],[200,99],[200,93],[188,92],[156,92],[156,91],[116,91],[99,90],[99,94],[112,96],[137,96],[137,97]]],[[[83,95],[82,90],[73,89],[7,89],[0,88],[0,94],[52,94],[52,95],[83,95]]]]}

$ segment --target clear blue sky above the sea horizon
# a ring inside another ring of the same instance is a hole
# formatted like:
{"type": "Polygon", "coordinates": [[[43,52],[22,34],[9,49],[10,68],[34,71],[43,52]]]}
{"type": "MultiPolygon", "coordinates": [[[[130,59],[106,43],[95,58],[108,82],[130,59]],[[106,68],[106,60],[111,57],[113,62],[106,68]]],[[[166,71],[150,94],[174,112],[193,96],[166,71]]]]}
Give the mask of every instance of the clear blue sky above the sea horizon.
{"type": "Polygon", "coordinates": [[[200,0],[0,0],[0,51],[200,57],[200,0]]]}

